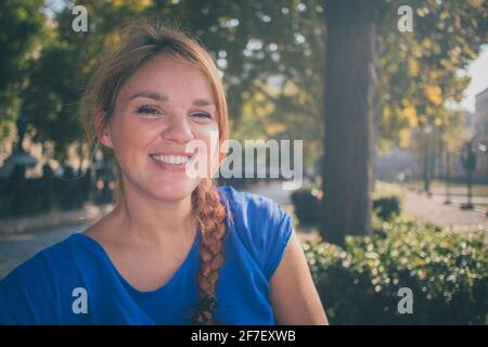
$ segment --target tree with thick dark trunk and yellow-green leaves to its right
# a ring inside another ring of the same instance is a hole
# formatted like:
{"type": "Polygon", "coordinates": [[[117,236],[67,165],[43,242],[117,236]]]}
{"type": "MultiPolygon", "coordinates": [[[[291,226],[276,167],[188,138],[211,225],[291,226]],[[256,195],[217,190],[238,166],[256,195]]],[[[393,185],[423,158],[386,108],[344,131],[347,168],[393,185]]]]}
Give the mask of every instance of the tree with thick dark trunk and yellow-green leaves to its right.
{"type": "Polygon", "coordinates": [[[380,130],[394,140],[401,140],[408,128],[449,126],[452,113],[445,112],[447,104],[459,102],[466,87],[459,69],[476,57],[487,40],[484,1],[411,1],[416,25],[406,35],[395,30],[400,4],[326,2],[322,233],[337,244],[346,234],[369,232],[372,110],[382,111],[380,130]],[[382,56],[376,100],[375,42],[382,56]]]}

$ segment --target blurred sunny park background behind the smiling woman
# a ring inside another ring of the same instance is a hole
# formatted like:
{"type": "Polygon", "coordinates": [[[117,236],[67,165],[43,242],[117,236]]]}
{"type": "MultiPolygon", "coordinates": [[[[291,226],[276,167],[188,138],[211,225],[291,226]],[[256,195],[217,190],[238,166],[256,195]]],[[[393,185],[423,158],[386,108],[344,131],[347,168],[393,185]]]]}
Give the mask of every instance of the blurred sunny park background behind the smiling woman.
{"type": "Polygon", "coordinates": [[[294,217],[331,323],[488,322],[485,0],[1,1],[0,278],[113,208],[79,100],[146,15],[211,52],[232,139],[303,140],[298,190],[219,181],[294,217]]]}

